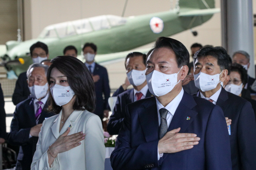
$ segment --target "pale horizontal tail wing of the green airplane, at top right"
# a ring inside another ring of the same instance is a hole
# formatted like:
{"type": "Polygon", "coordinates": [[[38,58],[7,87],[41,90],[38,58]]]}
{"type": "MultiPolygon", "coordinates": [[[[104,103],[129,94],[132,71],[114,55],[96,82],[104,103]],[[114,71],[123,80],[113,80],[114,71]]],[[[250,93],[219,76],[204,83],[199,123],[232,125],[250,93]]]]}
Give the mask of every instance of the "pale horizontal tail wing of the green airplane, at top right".
{"type": "Polygon", "coordinates": [[[179,13],[179,16],[182,17],[191,17],[191,16],[203,16],[203,15],[213,15],[219,13],[220,8],[208,8],[208,9],[196,9],[190,11],[183,11],[179,13]]]}

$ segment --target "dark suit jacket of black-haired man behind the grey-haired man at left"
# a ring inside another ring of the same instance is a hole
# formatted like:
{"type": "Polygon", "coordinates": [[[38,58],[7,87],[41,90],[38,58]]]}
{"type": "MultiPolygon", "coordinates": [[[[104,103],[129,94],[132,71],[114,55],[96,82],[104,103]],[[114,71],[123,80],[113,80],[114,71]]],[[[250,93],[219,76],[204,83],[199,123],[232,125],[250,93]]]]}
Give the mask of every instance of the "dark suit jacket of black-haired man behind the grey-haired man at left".
{"type": "Polygon", "coordinates": [[[26,80],[26,72],[19,74],[19,78],[16,81],[15,89],[12,95],[12,103],[14,105],[26,100],[30,95],[26,80]]]}

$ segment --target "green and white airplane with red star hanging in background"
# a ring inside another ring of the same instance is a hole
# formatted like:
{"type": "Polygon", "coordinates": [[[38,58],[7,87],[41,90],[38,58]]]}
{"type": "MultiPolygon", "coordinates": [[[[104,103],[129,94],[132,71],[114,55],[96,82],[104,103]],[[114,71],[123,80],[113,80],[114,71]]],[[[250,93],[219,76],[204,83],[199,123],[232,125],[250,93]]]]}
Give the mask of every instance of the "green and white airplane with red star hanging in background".
{"type": "Polygon", "coordinates": [[[14,70],[19,75],[32,64],[29,48],[37,41],[48,45],[49,59],[63,55],[68,45],[74,45],[80,52],[84,43],[93,42],[98,47],[95,60],[102,63],[124,58],[126,51],[156,41],[158,37],[169,37],[199,26],[218,12],[220,9],[215,8],[214,0],[179,0],[170,11],[127,18],[101,15],[62,22],[45,27],[36,39],[8,41],[7,52],[1,58],[8,71],[14,70]]]}

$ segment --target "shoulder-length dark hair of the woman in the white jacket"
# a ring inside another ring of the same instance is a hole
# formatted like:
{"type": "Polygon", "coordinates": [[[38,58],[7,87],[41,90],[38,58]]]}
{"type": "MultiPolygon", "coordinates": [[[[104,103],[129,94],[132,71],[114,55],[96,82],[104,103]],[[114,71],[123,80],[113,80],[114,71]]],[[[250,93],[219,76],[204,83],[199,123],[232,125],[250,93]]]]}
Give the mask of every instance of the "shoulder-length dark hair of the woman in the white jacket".
{"type": "MultiPolygon", "coordinates": [[[[57,56],[52,59],[53,63],[47,72],[47,81],[50,85],[50,75],[53,68],[58,69],[61,73],[67,76],[68,84],[75,92],[74,110],[90,111],[95,109],[96,96],[92,76],[83,62],[71,56],[57,56]]],[[[59,114],[61,107],[56,105],[53,96],[49,95],[48,111],[53,111],[59,114]]]]}

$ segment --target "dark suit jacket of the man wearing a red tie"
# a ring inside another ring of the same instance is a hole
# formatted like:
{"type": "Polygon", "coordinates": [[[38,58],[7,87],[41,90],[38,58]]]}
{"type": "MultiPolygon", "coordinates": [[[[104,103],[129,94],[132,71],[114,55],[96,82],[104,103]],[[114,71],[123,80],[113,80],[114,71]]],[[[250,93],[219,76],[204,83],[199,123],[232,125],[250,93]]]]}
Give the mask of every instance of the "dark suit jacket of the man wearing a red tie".
{"type": "MultiPolygon", "coordinates": [[[[147,95],[145,97],[147,98],[150,96],[151,93],[147,90],[147,95]]],[[[118,135],[124,120],[125,106],[132,102],[134,102],[134,89],[129,89],[117,95],[117,103],[109,118],[107,126],[107,131],[110,135],[118,135]]]]}

